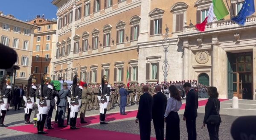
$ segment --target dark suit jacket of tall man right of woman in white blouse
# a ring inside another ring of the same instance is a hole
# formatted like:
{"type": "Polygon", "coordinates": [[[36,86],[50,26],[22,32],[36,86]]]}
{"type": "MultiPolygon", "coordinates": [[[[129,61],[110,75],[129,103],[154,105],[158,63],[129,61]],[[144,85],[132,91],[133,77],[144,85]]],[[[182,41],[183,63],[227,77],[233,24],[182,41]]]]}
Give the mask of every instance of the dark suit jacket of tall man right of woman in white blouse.
{"type": "Polygon", "coordinates": [[[186,94],[186,106],[185,112],[183,114],[186,119],[195,119],[197,117],[198,109],[198,95],[195,93],[195,90],[189,90],[186,94]]]}

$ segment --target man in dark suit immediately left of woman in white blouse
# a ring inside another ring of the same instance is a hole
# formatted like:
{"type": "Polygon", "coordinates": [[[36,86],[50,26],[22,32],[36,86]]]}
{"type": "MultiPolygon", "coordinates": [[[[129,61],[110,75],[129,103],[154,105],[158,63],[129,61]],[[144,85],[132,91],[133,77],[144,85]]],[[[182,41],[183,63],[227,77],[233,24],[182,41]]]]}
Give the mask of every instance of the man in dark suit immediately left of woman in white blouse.
{"type": "Polygon", "coordinates": [[[161,86],[155,87],[155,94],[153,96],[152,118],[157,140],[163,140],[164,133],[164,114],[166,111],[167,98],[161,91],[161,86]]]}

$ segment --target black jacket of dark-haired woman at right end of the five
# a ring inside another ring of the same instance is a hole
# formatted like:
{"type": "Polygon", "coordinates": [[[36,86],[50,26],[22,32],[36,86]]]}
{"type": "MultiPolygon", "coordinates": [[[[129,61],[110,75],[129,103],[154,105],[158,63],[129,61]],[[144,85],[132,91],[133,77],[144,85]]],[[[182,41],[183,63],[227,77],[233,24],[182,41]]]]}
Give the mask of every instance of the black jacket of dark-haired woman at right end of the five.
{"type": "Polygon", "coordinates": [[[221,116],[220,113],[220,106],[221,103],[218,100],[218,98],[209,98],[206,105],[205,105],[205,115],[204,115],[204,123],[206,123],[206,120],[209,118],[210,115],[218,115],[219,120],[221,122],[221,116]],[[215,108],[216,106],[216,108],[215,108]],[[217,112],[218,110],[218,112],[217,112]]]}

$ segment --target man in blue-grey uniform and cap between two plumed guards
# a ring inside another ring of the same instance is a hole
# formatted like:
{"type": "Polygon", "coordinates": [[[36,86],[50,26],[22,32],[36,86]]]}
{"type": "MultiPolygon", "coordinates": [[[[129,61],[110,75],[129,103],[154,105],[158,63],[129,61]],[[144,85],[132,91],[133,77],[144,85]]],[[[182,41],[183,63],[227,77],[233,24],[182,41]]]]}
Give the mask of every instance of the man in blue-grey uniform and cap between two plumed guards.
{"type": "Polygon", "coordinates": [[[63,89],[58,92],[60,102],[58,103],[58,127],[64,126],[65,113],[67,109],[67,96],[70,94],[70,90],[67,88],[67,82],[62,84],[63,89]]]}

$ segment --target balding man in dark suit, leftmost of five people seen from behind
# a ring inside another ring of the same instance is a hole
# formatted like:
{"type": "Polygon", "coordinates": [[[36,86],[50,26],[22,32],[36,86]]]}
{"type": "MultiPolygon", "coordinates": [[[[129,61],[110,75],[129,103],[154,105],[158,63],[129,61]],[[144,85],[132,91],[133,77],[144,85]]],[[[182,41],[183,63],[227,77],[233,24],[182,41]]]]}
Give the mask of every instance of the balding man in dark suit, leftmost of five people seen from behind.
{"type": "Polygon", "coordinates": [[[135,122],[140,122],[140,140],[150,140],[153,98],[148,92],[148,86],[142,87],[143,95],[140,96],[140,104],[135,122]]]}

